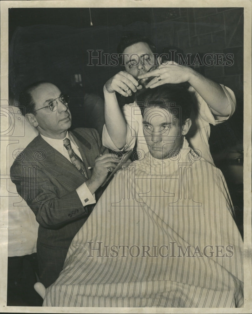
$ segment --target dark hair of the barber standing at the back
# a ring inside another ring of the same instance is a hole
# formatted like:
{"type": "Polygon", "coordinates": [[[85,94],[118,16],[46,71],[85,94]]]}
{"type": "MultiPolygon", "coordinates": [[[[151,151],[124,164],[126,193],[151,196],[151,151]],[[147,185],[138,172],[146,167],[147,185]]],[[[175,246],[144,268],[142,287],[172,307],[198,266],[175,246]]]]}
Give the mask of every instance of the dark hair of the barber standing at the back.
{"type": "Polygon", "coordinates": [[[129,33],[126,36],[121,37],[121,40],[117,46],[117,53],[122,54],[123,51],[138,42],[145,42],[153,53],[157,53],[157,47],[147,37],[141,36],[137,33],[129,33]]]}

